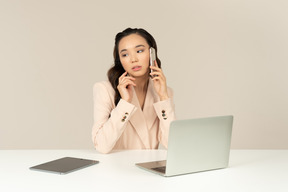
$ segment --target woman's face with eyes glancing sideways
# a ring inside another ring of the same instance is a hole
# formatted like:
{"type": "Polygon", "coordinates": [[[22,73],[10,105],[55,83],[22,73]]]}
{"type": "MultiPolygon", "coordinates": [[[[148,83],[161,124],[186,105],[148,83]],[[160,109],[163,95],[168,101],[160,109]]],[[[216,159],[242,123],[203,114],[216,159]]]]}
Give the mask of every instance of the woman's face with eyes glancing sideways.
{"type": "Polygon", "coordinates": [[[149,45],[140,35],[123,37],[118,45],[123,68],[132,77],[149,76],[149,45]]]}

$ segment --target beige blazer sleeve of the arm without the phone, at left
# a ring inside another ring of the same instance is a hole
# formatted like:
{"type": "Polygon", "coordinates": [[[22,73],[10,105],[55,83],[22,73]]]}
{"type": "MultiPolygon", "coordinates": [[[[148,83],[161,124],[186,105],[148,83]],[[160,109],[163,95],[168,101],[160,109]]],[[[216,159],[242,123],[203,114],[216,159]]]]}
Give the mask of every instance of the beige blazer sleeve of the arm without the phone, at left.
{"type": "Polygon", "coordinates": [[[110,88],[103,82],[96,83],[93,87],[92,141],[101,153],[109,153],[113,149],[136,108],[122,99],[115,107],[114,90],[110,88]]]}

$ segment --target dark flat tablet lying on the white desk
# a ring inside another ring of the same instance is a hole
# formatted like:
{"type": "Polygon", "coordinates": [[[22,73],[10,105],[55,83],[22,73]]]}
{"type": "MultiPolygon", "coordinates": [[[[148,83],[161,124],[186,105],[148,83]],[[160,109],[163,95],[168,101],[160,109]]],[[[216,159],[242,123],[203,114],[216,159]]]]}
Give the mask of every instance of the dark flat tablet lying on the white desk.
{"type": "Polygon", "coordinates": [[[36,165],[34,167],[30,167],[30,170],[67,174],[72,171],[95,165],[97,163],[99,163],[99,161],[75,157],[64,157],[61,159],[56,159],[54,161],[49,161],[47,163],[36,165]]]}

